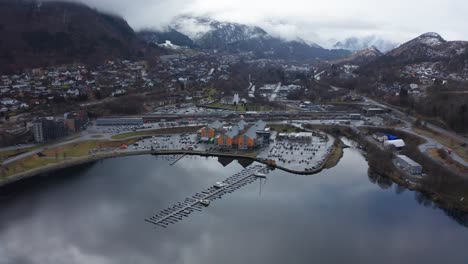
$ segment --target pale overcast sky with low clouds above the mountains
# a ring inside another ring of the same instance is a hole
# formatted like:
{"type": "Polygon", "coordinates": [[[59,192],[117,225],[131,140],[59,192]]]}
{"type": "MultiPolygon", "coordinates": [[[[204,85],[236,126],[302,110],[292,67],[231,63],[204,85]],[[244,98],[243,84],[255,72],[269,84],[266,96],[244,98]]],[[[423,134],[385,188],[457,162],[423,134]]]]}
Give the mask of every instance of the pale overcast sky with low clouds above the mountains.
{"type": "Polygon", "coordinates": [[[468,40],[466,0],[79,0],[124,17],[135,29],[163,28],[180,14],[254,24],[283,38],[325,44],[379,35],[405,42],[425,32],[468,40]]]}

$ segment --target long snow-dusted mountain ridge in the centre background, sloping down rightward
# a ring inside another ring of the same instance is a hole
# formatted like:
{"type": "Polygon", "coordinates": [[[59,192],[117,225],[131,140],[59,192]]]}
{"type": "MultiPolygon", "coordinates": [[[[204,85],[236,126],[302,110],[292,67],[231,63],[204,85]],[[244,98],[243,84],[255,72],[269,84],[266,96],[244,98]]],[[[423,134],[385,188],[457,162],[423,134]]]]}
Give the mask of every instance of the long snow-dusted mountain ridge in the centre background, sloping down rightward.
{"type": "Polygon", "coordinates": [[[327,50],[304,41],[286,41],[269,35],[260,27],[208,18],[178,17],[173,27],[202,49],[254,52],[259,57],[294,60],[336,59],[350,54],[349,51],[327,50]]]}

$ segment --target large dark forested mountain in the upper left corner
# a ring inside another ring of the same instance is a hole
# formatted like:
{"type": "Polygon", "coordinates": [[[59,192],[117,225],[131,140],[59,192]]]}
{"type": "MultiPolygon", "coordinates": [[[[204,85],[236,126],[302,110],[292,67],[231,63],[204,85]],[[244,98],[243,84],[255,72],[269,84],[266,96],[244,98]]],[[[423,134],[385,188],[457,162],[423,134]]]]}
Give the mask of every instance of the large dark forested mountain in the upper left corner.
{"type": "Polygon", "coordinates": [[[2,0],[0,35],[0,71],[97,63],[142,51],[125,20],[70,2],[2,0]]]}

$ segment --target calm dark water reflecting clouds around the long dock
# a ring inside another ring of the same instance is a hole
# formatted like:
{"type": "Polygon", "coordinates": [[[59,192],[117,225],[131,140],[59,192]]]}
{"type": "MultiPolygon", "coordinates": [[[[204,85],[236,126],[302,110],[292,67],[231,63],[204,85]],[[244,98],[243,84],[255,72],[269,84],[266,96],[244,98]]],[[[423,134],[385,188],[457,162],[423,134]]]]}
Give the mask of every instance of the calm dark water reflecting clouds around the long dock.
{"type": "Polygon", "coordinates": [[[143,221],[241,169],[134,156],[0,189],[0,263],[468,263],[466,216],[369,176],[354,149],[314,176],[274,171],[167,229],[143,221]]]}

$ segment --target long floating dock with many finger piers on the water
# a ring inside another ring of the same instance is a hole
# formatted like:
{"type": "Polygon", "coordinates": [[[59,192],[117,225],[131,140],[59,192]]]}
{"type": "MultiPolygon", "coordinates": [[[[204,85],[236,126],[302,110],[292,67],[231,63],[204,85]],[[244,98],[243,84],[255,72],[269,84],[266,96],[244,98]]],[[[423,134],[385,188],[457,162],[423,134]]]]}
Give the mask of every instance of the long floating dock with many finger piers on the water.
{"type": "Polygon", "coordinates": [[[268,167],[264,165],[250,166],[239,173],[224,180],[223,186],[211,186],[208,189],[198,192],[191,197],[186,197],[183,201],[160,211],[159,213],[146,218],[145,221],[159,227],[167,228],[170,224],[175,224],[182,219],[188,217],[194,211],[201,211],[207,205],[203,205],[202,201],[212,202],[220,199],[228,193],[256,181],[260,177],[264,177],[268,173],[268,167]]]}

